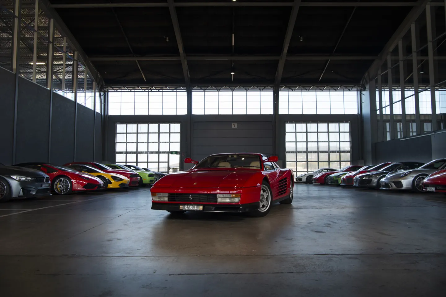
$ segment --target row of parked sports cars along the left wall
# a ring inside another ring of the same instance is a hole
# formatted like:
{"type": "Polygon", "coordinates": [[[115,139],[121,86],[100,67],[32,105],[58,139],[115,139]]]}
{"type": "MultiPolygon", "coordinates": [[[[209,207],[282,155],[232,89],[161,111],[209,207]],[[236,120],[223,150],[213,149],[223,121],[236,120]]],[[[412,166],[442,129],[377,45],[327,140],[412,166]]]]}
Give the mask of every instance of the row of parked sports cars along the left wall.
{"type": "Polygon", "coordinates": [[[14,197],[66,195],[75,191],[152,186],[165,174],[135,165],[72,162],[63,166],[50,163],[0,163],[0,202],[14,197]]]}

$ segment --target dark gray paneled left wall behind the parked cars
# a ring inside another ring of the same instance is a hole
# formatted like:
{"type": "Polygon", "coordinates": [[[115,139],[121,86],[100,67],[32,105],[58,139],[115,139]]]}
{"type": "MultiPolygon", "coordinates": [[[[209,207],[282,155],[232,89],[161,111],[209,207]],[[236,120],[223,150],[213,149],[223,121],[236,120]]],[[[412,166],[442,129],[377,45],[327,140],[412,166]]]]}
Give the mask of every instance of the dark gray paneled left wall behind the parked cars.
{"type": "MultiPolygon", "coordinates": [[[[0,68],[0,125],[4,141],[0,162],[12,165],[15,74],[0,68]]],[[[74,160],[74,112],[78,106],[76,161],[102,160],[101,115],[53,92],[51,150],[50,90],[18,77],[17,138],[15,163],[50,162],[64,164],[74,160]],[[98,123],[99,122],[99,123],[98,123]],[[95,131],[95,141],[94,141],[95,131]],[[99,142],[99,145],[98,145],[99,142]]]]}

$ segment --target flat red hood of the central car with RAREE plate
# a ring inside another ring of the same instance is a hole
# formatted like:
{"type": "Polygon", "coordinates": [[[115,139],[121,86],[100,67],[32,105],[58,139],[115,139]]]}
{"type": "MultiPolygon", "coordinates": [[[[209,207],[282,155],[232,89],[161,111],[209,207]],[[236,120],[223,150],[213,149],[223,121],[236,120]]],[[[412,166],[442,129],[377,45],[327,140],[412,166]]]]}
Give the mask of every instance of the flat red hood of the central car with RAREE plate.
{"type": "Polygon", "coordinates": [[[159,179],[154,187],[244,187],[257,170],[188,170],[178,171],[159,179]]]}

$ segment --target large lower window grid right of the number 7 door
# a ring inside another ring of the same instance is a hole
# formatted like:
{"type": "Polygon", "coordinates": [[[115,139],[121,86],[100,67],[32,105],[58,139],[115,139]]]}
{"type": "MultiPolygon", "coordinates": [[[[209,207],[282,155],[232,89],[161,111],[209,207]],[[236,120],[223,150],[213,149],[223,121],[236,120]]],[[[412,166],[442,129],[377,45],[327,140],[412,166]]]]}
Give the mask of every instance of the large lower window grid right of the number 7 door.
{"type": "Polygon", "coordinates": [[[286,123],[286,167],[296,175],[351,164],[350,123],[286,123]]]}

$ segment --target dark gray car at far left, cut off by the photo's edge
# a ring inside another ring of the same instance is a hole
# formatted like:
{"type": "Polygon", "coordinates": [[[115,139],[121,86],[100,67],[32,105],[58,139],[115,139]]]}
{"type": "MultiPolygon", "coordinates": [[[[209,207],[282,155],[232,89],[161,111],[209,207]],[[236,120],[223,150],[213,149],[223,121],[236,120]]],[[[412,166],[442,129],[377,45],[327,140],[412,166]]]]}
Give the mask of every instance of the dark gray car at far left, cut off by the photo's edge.
{"type": "Polygon", "coordinates": [[[0,202],[50,195],[50,187],[50,177],[41,171],[0,163],[0,202]]]}

